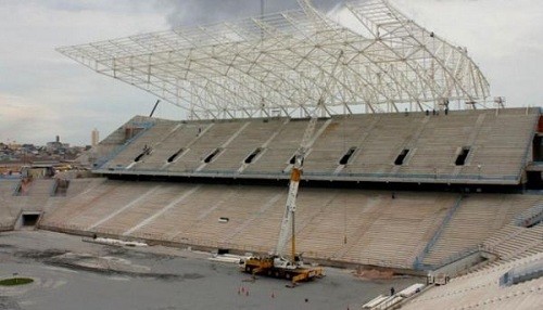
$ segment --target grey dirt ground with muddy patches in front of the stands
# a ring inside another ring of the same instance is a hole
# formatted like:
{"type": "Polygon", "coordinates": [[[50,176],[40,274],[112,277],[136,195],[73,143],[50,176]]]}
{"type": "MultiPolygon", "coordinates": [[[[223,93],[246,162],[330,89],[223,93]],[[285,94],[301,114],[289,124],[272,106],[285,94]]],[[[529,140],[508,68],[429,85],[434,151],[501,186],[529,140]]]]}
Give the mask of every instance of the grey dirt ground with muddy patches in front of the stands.
{"type": "Polygon", "coordinates": [[[391,287],[421,282],[326,268],[324,279],[288,288],[283,280],[248,281],[238,266],[209,257],[162,246],[93,244],[48,231],[3,232],[0,279],[16,273],[35,282],[0,288],[0,309],[359,309],[391,287]]]}

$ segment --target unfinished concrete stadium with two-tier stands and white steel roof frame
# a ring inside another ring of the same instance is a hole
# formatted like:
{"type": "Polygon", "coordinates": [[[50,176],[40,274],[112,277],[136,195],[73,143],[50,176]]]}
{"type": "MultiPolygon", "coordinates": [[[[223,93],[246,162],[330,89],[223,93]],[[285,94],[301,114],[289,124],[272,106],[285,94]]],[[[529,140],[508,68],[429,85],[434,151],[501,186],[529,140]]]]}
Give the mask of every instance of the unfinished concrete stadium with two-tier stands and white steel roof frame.
{"type": "Polygon", "coordinates": [[[94,178],[0,181],[0,228],[263,256],[295,204],[307,261],[428,276],[359,307],[541,307],[540,108],[490,98],[465,48],[386,0],[299,2],[60,48],[187,117],[122,124],[94,178]]]}

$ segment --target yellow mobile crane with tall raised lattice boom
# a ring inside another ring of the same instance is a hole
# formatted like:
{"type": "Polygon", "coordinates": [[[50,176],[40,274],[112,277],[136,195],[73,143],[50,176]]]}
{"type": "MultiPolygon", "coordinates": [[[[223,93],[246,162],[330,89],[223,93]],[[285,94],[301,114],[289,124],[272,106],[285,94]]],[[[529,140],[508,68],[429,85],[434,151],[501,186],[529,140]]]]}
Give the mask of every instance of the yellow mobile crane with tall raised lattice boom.
{"type": "MultiPolygon", "coordinates": [[[[343,55],[343,51],[340,52],[338,56],[338,61],[332,68],[332,76],[336,72],[338,64],[341,61],[343,55]]],[[[317,109],[324,106],[325,96],[329,92],[330,82],[332,77],[329,79],[328,83],[324,88],[324,92],[321,93],[318,103],[317,109]]],[[[314,277],[320,277],[325,275],[324,269],[320,267],[307,266],[304,264],[302,258],[296,255],[295,247],[295,221],[294,215],[296,210],[296,196],[298,196],[298,188],[300,185],[300,179],[302,177],[303,163],[305,158],[305,154],[307,153],[312,140],[313,132],[315,131],[315,126],[317,124],[317,115],[314,112],[312,114],[310,124],[305,129],[302,143],[298,148],[294,155],[294,165],[292,166],[292,170],[290,172],[290,184],[289,184],[289,194],[287,196],[287,205],[285,208],[285,215],[281,222],[281,230],[279,232],[279,240],[277,241],[277,247],[275,253],[269,256],[264,257],[250,257],[243,261],[241,261],[242,268],[245,272],[255,274],[264,274],[268,276],[275,276],[280,279],[287,279],[292,282],[292,285],[295,285],[298,282],[310,281],[314,277]],[[291,237],[291,254],[290,258],[286,258],[283,256],[283,248],[289,241],[289,235],[291,237]]]]}

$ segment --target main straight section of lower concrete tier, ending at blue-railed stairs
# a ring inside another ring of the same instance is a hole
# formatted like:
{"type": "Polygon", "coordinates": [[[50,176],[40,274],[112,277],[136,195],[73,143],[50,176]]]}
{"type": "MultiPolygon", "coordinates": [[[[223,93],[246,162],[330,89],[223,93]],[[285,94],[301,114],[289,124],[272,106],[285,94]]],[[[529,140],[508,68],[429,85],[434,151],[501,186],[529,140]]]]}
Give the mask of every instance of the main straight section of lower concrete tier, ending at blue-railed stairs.
{"type": "MultiPolygon", "coordinates": [[[[65,197],[43,227],[164,242],[275,249],[287,188],[97,181],[65,197]]],[[[308,257],[409,268],[454,205],[453,194],[304,189],[298,249],[308,257]]],[[[289,248],[286,248],[288,251],[289,248]]]]}

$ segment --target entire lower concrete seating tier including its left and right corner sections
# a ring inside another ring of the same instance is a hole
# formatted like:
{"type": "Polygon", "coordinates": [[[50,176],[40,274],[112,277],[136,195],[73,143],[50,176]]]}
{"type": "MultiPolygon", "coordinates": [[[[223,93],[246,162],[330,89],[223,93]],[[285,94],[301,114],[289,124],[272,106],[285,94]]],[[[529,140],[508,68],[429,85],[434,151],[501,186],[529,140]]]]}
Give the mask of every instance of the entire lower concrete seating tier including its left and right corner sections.
{"type": "MultiPolygon", "coordinates": [[[[106,179],[72,180],[66,196],[51,197],[48,182],[53,180],[39,181],[28,196],[13,196],[17,181],[0,182],[2,227],[12,227],[21,210],[36,209],[46,210],[40,221],[46,229],[272,251],[287,198],[287,186],[106,179]]],[[[457,197],[420,192],[397,192],[392,197],[383,191],[302,188],[298,250],[306,257],[411,268],[457,197]]],[[[439,263],[485,240],[484,246],[503,258],[541,250],[543,244],[536,241],[541,228],[506,225],[541,201],[539,195],[465,197],[422,262],[439,263]]]]}

